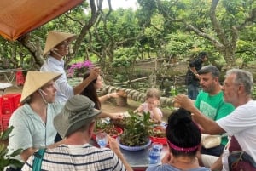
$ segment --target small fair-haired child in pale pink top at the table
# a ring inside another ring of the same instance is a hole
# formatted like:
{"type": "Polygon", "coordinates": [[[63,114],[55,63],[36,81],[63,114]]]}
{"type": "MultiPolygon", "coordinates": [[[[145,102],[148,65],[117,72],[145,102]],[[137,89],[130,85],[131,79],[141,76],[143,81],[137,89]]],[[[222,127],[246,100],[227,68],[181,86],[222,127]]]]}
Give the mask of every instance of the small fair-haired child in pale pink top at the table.
{"type": "Polygon", "coordinates": [[[160,105],[160,91],[156,88],[149,88],[146,93],[145,102],[134,112],[150,112],[150,117],[154,123],[161,123],[163,114],[158,107],[160,105]]]}

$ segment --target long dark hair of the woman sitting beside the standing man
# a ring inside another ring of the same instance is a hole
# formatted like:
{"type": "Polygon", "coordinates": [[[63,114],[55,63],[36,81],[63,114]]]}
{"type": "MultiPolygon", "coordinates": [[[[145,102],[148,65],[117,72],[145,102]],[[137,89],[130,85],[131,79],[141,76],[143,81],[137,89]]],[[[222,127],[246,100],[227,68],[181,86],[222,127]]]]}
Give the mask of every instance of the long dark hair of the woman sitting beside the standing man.
{"type": "MultiPolygon", "coordinates": [[[[90,71],[87,71],[84,74],[84,80],[89,76],[90,76],[90,71]]],[[[97,90],[96,90],[96,86],[95,86],[96,81],[97,81],[97,79],[90,82],[90,84],[86,88],[84,88],[81,95],[87,96],[90,100],[92,100],[95,103],[94,108],[100,110],[101,109],[101,102],[98,98],[98,94],[97,94],[97,90]]]]}

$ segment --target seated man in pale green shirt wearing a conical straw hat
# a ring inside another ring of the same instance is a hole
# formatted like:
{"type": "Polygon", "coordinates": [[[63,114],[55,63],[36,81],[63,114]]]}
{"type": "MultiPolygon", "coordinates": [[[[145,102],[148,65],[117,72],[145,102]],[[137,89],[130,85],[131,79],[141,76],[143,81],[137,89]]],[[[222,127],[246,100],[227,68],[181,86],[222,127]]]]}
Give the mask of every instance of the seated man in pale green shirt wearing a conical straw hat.
{"type": "Polygon", "coordinates": [[[22,162],[26,162],[38,148],[55,142],[57,131],[53,119],[64,106],[64,103],[55,102],[54,81],[59,77],[61,73],[27,72],[20,99],[21,106],[9,120],[9,127],[14,127],[9,136],[9,153],[23,149],[20,156],[16,157],[22,162]]]}

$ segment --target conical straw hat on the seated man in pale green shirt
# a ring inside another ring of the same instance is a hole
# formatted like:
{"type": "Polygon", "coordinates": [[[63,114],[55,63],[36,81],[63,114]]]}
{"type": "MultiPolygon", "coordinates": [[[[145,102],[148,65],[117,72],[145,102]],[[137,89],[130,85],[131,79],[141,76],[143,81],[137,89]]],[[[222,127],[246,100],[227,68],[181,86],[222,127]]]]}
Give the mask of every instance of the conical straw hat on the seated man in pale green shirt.
{"type": "Polygon", "coordinates": [[[61,77],[61,73],[28,71],[26,74],[26,81],[22,89],[20,103],[24,104],[31,94],[36,92],[39,88],[43,87],[49,81],[55,81],[59,77],[61,77]]]}

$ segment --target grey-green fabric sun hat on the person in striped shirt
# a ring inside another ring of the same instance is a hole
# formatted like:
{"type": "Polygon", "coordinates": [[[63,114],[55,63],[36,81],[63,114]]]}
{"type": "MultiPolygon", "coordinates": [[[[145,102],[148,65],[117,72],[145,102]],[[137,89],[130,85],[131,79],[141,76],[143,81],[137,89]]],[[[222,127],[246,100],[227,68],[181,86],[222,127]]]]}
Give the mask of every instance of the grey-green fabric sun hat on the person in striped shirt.
{"type": "Polygon", "coordinates": [[[62,111],[55,116],[54,125],[62,138],[89,125],[102,111],[94,108],[94,102],[84,95],[74,95],[67,100],[62,111]]]}

